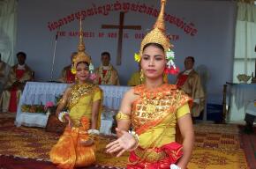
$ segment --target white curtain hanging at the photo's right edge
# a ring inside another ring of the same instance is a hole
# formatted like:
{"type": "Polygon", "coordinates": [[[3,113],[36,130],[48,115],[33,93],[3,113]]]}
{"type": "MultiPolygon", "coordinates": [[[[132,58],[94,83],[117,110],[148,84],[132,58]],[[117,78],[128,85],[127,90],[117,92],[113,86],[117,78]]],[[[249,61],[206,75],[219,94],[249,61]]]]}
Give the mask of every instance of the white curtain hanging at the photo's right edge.
{"type": "MultiPolygon", "coordinates": [[[[256,5],[238,3],[234,56],[233,82],[237,75],[252,75],[255,70],[256,53],[256,5]]],[[[255,72],[254,72],[255,76],[255,72]]],[[[251,82],[251,79],[250,81],[251,82]]]]}

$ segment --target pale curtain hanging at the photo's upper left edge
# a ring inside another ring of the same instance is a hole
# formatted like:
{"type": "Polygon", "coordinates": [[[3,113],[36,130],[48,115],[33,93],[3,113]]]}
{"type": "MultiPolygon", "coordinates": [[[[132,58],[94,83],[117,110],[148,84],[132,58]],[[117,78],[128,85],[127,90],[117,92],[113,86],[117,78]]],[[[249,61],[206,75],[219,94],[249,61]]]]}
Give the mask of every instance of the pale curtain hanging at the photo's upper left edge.
{"type": "Polygon", "coordinates": [[[0,1],[0,53],[10,65],[16,61],[17,6],[17,0],[0,1]]]}

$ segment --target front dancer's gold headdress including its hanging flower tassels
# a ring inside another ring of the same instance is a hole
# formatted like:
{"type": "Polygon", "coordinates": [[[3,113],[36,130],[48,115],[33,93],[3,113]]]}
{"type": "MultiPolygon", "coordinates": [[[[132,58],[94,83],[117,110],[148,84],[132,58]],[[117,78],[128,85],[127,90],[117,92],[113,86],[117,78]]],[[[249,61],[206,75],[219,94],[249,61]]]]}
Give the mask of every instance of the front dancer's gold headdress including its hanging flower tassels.
{"type": "Polygon", "coordinates": [[[156,19],[153,30],[147,33],[144,39],[141,41],[139,54],[135,54],[135,61],[139,62],[141,59],[141,55],[143,52],[143,48],[148,43],[157,43],[162,46],[164,49],[164,53],[166,55],[167,62],[167,73],[177,73],[177,67],[175,66],[174,60],[174,52],[172,51],[173,45],[170,44],[169,38],[165,33],[165,25],[164,25],[164,7],[167,0],[161,0],[161,11],[156,19]]]}

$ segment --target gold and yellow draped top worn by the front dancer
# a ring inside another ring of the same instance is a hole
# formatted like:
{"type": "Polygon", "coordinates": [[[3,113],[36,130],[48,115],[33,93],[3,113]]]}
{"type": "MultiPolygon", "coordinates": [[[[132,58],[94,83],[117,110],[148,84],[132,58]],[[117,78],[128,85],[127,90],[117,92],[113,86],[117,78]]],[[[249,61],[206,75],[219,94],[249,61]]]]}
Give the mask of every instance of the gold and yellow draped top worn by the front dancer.
{"type": "Polygon", "coordinates": [[[175,141],[177,118],[189,114],[191,99],[176,85],[162,84],[149,91],[145,84],[134,87],[139,99],[132,104],[132,128],[143,149],[175,141]]]}

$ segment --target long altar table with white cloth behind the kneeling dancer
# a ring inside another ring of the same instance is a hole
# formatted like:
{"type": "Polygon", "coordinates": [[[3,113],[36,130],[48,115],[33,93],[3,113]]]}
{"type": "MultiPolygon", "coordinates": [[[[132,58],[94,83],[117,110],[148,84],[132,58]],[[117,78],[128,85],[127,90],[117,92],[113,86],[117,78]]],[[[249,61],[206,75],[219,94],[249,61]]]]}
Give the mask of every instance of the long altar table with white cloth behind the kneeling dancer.
{"type": "MultiPolygon", "coordinates": [[[[56,101],[56,97],[63,94],[64,90],[71,84],[61,83],[42,83],[42,82],[27,82],[24,91],[19,99],[19,106],[16,115],[16,126],[25,125],[28,127],[45,128],[48,115],[40,113],[26,113],[21,111],[22,105],[45,105],[47,102],[56,101]]],[[[114,111],[119,108],[120,102],[130,87],[115,86],[115,85],[100,85],[103,91],[103,106],[109,111],[114,111]]],[[[106,114],[106,112],[102,112],[106,114]]],[[[109,118],[109,117],[108,117],[109,118]]],[[[109,126],[113,121],[112,118],[102,118],[102,129],[107,134],[106,126],[109,126]]]]}

